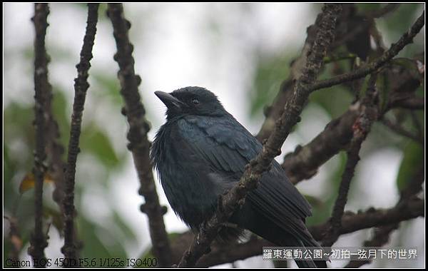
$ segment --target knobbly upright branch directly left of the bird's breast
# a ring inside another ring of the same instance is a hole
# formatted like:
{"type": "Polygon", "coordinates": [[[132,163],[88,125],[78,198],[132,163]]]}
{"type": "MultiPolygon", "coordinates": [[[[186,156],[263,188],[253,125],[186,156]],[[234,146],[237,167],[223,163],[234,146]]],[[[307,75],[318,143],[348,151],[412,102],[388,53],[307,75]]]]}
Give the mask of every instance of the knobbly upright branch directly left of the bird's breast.
{"type": "Polygon", "coordinates": [[[108,16],[113,24],[113,35],[118,49],[114,59],[119,65],[118,78],[121,82],[121,95],[125,102],[122,112],[129,123],[128,149],[132,152],[141,183],[139,193],[144,196],[146,201],[141,206],[141,211],[148,216],[153,254],[157,257],[160,267],[169,267],[171,251],[163,223],[165,210],[159,204],[149,156],[151,143],[148,141],[147,133],[151,127],[145,118],[146,111],[138,93],[141,78],[135,74],[133,45],[128,39],[128,29],[131,28],[131,23],[123,15],[122,4],[108,4],[108,16]]]}

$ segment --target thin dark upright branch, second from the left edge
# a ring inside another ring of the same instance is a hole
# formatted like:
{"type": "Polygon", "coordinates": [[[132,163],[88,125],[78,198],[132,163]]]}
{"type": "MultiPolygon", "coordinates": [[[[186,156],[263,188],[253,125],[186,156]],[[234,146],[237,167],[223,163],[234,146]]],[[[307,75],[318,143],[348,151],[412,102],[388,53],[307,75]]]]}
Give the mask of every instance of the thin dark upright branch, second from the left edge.
{"type": "Polygon", "coordinates": [[[68,142],[68,159],[66,179],[64,185],[64,246],[61,252],[68,259],[76,259],[76,245],[74,244],[74,183],[76,174],[76,160],[79,153],[78,143],[81,133],[83,106],[85,104],[86,91],[89,88],[88,70],[91,67],[92,47],[96,34],[99,4],[88,4],[88,21],[86,34],[81,49],[81,61],[76,65],[77,78],[74,79],[73,114],[71,115],[70,140],[68,142]]]}

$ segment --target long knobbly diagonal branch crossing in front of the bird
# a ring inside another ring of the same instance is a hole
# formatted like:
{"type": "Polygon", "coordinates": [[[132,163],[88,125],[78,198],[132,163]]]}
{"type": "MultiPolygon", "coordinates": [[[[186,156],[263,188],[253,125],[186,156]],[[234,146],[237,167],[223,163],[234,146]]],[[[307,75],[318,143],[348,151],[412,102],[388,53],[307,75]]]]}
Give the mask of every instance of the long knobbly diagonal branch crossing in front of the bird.
{"type": "Polygon", "coordinates": [[[276,121],[272,134],[263,144],[263,150],[245,167],[245,172],[235,185],[219,200],[219,208],[213,218],[202,225],[189,249],[184,253],[178,267],[193,267],[198,259],[205,254],[217,235],[220,225],[243,204],[245,196],[257,187],[261,175],[270,168],[273,158],[280,153],[280,148],[287,138],[291,128],[300,118],[300,113],[309,96],[308,86],[313,83],[322,66],[322,59],[326,55],[327,48],[335,38],[335,24],[338,14],[342,10],[340,4],[325,4],[322,9],[322,21],[312,50],[307,55],[305,68],[299,80],[295,83],[287,101],[284,112],[276,121]]]}

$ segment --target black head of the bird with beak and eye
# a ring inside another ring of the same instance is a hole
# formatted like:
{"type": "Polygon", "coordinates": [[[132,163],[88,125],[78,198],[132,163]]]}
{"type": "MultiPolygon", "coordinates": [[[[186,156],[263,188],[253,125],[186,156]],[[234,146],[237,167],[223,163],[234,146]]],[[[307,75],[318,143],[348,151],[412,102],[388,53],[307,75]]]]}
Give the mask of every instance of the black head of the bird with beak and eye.
{"type": "Polygon", "coordinates": [[[188,86],[171,93],[156,91],[167,107],[168,119],[183,115],[223,116],[227,114],[217,96],[206,88],[188,86]]]}

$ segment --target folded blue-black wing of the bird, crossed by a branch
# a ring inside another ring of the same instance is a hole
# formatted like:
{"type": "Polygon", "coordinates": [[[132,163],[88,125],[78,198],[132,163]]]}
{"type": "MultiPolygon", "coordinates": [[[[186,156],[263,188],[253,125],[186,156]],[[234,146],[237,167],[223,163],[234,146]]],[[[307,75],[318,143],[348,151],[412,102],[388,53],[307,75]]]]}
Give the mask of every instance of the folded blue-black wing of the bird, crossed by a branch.
{"type": "MultiPolygon", "coordinates": [[[[225,176],[219,182],[233,185],[243,174],[245,165],[262,150],[258,140],[232,116],[188,116],[180,122],[179,127],[183,130],[180,134],[188,143],[186,148],[208,163],[213,173],[225,176]]],[[[296,221],[300,227],[302,220],[311,215],[309,203],[287,180],[276,161],[272,162],[272,169],[263,175],[259,187],[248,198],[260,213],[265,213],[272,221],[280,218],[277,223],[296,221]]]]}

